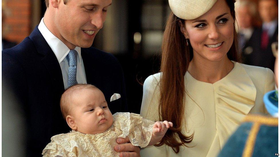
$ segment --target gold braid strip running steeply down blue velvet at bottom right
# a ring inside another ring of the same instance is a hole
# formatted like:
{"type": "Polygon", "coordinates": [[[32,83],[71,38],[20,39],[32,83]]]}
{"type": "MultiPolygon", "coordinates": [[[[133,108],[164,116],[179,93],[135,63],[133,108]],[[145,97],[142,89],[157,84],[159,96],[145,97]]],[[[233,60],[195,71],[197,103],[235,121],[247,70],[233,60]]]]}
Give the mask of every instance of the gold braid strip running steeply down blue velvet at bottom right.
{"type": "Polygon", "coordinates": [[[252,126],[250,134],[249,134],[247,142],[246,142],[246,145],[243,150],[242,157],[251,157],[252,156],[252,153],[254,151],[255,142],[256,142],[256,136],[258,134],[259,129],[260,129],[259,123],[255,123],[252,126]]]}

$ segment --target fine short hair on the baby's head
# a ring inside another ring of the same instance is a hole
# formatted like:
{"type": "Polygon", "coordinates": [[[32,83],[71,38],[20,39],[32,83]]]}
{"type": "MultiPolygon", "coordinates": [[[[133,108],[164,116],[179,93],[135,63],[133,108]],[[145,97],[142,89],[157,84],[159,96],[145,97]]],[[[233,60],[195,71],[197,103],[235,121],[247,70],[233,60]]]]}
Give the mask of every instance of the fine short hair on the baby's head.
{"type": "Polygon", "coordinates": [[[63,118],[66,120],[66,116],[71,114],[71,96],[74,93],[75,90],[80,89],[86,89],[86,88],[92,88],[92,89],[98,89],[97,87],[91,85],[91,84],[76,84],[74,86],[71,86],[67,88],[60,99],[60,110],[62,113],[63,118]]]}

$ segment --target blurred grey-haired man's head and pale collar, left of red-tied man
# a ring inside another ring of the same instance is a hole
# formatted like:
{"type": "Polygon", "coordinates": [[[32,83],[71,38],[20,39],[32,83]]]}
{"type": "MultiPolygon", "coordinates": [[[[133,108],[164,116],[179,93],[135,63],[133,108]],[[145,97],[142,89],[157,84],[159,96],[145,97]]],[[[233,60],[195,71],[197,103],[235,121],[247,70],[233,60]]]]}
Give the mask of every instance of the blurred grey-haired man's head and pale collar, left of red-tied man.
{"type": "Polygon", "coordinates": [[[255,20],[257,13],[256,3],[249,0],[237,1],[236,4],[236,20],[238,23],[239,45],[244,51],[245,45],[251,39],[255,30],[255,20]]]}

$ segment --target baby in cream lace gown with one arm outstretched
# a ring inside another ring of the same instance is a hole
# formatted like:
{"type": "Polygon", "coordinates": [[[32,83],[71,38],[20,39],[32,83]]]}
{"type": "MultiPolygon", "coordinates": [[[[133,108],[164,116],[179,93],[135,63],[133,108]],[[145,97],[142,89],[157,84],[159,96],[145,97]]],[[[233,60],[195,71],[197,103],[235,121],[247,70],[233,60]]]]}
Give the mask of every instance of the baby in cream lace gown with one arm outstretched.
{"type": "Polygon", "coordinates": [[[103,93],[89,84],[74,85],[61,96],[60,107],[72,129],[52,136],[43,156],[119,156],[116,138],[126,138],[141,148],[159,142],[171,122],[153,122],[139,114],[111,114],[103,93]]]}

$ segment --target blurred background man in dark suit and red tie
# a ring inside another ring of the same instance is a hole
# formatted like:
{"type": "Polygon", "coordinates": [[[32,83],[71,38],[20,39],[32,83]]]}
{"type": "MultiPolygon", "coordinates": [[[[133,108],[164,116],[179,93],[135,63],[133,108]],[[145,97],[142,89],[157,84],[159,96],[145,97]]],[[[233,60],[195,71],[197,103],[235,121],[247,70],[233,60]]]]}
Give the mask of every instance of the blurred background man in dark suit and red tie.
{"type": "MultiPolygon", "coordinates": [[[[269,45],[277,41],[278,1],[258,1],[258,12],[263,24],[254,30],[251,39],[244,45],[242,51],[243,63],[274,70],[275,57],[269,45]]],[[[239,23],[239,25],[242,24],[239,23]]]]}

